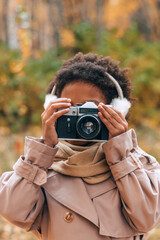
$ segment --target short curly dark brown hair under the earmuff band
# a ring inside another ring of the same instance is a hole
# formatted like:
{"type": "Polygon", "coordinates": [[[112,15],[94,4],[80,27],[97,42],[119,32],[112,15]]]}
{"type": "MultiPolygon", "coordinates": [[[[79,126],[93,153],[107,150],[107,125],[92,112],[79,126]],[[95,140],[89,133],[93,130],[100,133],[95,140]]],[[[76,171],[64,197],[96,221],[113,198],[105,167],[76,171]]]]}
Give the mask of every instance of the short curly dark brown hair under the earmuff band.
{"type": "Polygon", "coordinates": [[[109,104],[113,98],[118,97],[118,93],[115,85],[105,75],[105,72],[108,72],[118,81],[124,97],[131,101],[132,87],[127,76],[128,68],[120,69],[118,61],[111,59],[109,56],[102,57],[93,53],[85,55],[77,53],[73,58],[65,61],[54,80],[49,84],[46,92],[51,93],[55,85],[55,93],[57,97],[60,97],[66,84],[83,81],[100,88],[106,98],[106,102],[109,104]]]}

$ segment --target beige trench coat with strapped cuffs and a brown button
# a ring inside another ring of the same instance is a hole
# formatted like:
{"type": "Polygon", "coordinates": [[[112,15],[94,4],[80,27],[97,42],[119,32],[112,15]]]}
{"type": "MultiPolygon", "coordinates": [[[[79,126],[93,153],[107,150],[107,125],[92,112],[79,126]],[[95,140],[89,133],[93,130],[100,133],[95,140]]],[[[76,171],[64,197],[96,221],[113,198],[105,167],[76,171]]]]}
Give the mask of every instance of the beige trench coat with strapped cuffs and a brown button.
{"type": "Polygon", "coordinates": [[[56,148],[27,137],[0,178],[0,213],[43,240],[138,240],[160,223],[160,166],[133,129],[104,143],[112,177],[89,185],[47,169],[56,148]]]}

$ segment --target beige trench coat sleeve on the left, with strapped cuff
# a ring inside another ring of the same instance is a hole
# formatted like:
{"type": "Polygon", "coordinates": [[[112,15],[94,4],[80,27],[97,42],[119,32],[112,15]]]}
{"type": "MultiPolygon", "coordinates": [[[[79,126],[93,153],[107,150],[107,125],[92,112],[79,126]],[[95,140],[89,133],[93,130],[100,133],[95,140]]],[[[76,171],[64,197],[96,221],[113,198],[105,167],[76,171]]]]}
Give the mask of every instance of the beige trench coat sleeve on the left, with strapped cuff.
{"type": "Polygon", "coordinates": [[[0,214],[26,231],[39,227],[45,200],[41,185],[47,181],[47,169],[56,151],[56,147],[26,137],[24,156],[18,159],[14,171],[0,178],[0,214]]]}

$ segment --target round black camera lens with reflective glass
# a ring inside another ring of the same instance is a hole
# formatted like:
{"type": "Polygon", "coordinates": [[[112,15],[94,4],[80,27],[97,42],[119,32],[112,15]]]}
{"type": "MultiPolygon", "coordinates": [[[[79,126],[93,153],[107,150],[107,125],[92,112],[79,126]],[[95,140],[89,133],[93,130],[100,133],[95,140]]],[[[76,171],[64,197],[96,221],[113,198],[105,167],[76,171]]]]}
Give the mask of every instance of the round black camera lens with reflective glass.
{"type": "Polygon", "coordinates": [[[96,116],[85,114],[78,119],[76,129],[80,137],[87,140],[93,139],[100,132],[101,122],[96,116]]]}

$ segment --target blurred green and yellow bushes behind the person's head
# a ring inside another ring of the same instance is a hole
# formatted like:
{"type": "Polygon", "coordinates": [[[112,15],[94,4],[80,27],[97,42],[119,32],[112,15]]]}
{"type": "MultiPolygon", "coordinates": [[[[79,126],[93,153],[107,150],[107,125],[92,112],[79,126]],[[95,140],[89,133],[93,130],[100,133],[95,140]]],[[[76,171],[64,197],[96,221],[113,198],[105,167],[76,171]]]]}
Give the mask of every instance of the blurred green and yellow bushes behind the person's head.
{"type": "MultiPolygon", "coordinates": [[[[157,128],[160,124],[160,44],[145,40],[133,24],[123,37],[117,31],[103,30],[96,45],[96,29],[88,23],[72,27],[72,47],[61,46],[39,52],[38,57],[22,59],[19,50],[0,45],[0,121],[1,126],[19,131],[30,124],[40,124],[45,88],[64,59],[74,53],[89,51],[120,60],[121,67],[131,68],[134,87],[131,120],[137,126],[157,128]]],[[[64,35],[65,37],[65,35],[64,35]]],[[[69,36],[66,34],[66,37],[69,36]]],[[[67,40],[66,40],[67,41],[67,40]]]]}

